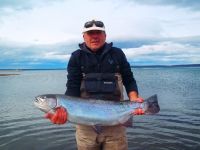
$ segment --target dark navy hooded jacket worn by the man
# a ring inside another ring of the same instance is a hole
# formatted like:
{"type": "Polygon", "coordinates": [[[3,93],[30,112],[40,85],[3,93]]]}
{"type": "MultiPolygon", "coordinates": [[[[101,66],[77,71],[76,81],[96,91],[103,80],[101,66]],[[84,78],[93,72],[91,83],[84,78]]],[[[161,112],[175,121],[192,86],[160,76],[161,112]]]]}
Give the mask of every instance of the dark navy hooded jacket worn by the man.
{"type": "Polygon", "coordinates": [[[85,43],[80,44],[79,47],[80,49],[72,53],[68,63],[66,95],[80,96],[82,73],[118,72],[122,75],[126,92],[138,92],[130,65],[121,49],[112,47],[112,43],[105,43],[97,53],[91,52],[85,43]]]}

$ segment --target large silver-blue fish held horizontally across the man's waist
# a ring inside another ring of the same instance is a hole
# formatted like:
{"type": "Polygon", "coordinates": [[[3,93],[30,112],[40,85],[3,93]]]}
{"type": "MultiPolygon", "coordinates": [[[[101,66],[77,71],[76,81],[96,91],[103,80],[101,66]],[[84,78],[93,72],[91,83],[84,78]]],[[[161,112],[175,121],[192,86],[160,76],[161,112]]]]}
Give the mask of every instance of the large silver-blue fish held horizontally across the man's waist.
{"type": "Polygon", "coordinates": [[[143,103],[135,103],[129,100],[115,102],[47,94],[37,96],[34,104],[44,112],[55,112],[56,108],[64,107],[68,113],[68,121],[92,126],[124,124],[137,108],[142,108],[145,114],[155,114],[160,110],[157,95],[149,97],[143,103]]]}

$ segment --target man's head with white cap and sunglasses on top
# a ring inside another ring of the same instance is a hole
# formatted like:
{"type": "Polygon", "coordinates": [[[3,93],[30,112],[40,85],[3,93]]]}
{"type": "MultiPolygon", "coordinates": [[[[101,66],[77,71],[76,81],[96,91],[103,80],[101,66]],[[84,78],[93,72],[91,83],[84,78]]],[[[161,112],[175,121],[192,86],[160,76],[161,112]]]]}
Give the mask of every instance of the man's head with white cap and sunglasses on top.
{"type": "Polygon", "coordinates": [[[87,47],[96,52],[106,41],[105,26],[101,21],[88,21],[83,28],[83,39],[87,47]]]}

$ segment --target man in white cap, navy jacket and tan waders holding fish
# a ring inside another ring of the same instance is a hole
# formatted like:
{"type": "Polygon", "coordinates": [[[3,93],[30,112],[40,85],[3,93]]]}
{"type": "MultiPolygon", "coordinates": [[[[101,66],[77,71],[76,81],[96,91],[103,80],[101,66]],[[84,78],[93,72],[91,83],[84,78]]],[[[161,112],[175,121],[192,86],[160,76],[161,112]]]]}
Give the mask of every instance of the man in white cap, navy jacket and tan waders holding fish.
{"type": "MultiPolygon", "coordinates": [[[[138,96],[136,81],[123,51],[106,43],[102,21],[92,20],[84,25],[84,43],[72,53],[68,63],[66,95],[103,100],[123,100],[123,85],[131,101],[143,102],[138,96]]],[[[142,111],[135,114],[142,114],[142,111]]],[[[67,121],[64,108],[47,114],[55,124],[67,121]]],[[[76,125],[79,150],[126,150],[126,128],[116,126],[76,125]]]]}

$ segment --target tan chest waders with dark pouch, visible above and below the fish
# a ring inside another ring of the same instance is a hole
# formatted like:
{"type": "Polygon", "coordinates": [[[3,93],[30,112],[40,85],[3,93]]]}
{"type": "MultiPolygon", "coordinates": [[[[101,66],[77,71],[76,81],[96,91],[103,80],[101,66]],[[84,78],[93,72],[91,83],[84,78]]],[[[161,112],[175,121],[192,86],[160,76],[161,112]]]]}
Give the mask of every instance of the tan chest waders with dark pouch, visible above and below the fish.
{"type": "MultiPolygon", "coordinates": [[[[81,97],[121,101],[123,97],[122,77],[119,73],[83,74],[81,97]]],[[[126,128],[116,126],[76,125],[78,150],[127,150],[126,128]]]]}

